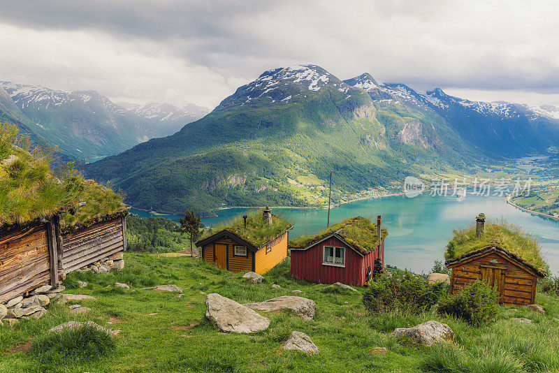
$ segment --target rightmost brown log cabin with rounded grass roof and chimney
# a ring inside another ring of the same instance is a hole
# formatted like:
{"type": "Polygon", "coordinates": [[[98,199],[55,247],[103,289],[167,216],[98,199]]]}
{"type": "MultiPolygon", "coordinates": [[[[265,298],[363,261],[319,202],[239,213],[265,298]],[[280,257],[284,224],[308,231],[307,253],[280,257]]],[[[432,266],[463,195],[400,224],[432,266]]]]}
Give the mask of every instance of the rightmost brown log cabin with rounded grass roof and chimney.
{"type": "Polygon", "coordinates": [[[481,279],[495,286],[505,305],[534,304],[537,279],[546,276],[536,237],[505,221],[485,226],[484,214],[476,226],[454,231],[445,258],[452,270],[451,293],[481,279]]]}

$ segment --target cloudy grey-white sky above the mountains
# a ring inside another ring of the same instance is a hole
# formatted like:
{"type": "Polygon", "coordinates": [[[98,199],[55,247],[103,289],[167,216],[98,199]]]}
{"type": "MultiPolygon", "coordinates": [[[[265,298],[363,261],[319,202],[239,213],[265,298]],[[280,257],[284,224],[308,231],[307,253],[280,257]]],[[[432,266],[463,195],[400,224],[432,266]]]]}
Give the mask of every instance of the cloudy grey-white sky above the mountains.
{"type": "Polygon", "coordinates": [[[559,105],[556,1],[0,0],[0,80],[213,107],[279,66],[559,105]]]}

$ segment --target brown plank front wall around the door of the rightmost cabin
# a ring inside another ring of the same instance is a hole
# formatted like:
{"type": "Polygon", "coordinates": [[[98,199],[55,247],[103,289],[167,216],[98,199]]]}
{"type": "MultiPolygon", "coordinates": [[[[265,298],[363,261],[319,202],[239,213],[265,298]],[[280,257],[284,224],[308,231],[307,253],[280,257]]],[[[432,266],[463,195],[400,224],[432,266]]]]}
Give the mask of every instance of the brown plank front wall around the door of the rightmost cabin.
{"type": "Polygon", "coordinates": [[[504,268],[504,286],[501,302],[507,305],[532,305],[535,302],[537,277],[504,256],[491,253],[467,263],[458,264],[452,269],[451,291],[456,294],[466,284],[482,279],[483,273],[489,272],[485,267],[504,268]],[[498,263],[491,263],[497,261],[498,263]]]}

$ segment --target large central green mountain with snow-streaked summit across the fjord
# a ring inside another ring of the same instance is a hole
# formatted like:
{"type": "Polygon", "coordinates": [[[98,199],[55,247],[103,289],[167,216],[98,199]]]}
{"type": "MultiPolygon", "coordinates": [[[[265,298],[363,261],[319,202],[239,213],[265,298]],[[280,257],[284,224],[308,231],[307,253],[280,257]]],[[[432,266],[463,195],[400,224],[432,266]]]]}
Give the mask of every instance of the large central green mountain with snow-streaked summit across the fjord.
{"type": "Polygon", "coordinates": [[[314,65],[277,68],[167,138],[86,166],[135,207],[207,213],[241,205],[326,201],[391,187],[410,173],[451,170],[467,147],[434,110],[373,101],[314,65]]]}

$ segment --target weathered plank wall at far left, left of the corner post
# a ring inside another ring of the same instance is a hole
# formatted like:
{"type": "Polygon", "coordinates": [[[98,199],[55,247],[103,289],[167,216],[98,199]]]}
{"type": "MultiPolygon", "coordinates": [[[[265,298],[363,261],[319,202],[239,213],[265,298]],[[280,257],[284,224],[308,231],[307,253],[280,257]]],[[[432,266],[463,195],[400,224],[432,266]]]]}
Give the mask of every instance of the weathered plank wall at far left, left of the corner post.
{"type": "Polygon", "coordinates": [[[0,237],[0,301],[50,281],[46,224],[17,228],[0,237]]]}

